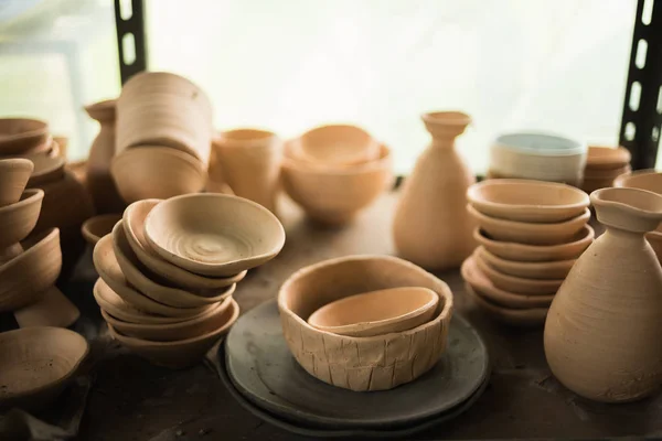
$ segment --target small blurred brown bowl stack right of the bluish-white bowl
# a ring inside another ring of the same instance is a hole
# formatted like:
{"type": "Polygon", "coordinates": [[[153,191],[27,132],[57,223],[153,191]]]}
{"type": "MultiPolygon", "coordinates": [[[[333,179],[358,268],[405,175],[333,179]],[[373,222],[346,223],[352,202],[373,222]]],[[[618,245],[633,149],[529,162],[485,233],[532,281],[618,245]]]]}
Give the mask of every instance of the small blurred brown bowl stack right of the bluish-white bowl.
{"type": "Polygon", "coordinates": [[[581,190],[591,193],[613,185],[613,180],[630,168],[630,151],[622,147],[589,146],[581,190]]]}

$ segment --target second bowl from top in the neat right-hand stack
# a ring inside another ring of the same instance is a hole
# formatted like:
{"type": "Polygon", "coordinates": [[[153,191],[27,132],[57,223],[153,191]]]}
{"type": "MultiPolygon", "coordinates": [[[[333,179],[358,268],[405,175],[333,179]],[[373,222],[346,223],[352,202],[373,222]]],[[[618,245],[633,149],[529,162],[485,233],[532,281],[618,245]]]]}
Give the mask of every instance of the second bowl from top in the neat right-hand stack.
{"type": "Polygon", "coordinates": [[[487,216],[468,205],[469,214],[476,218],[481,229],[496,240],[514,241],[527,245],[557,245],[572,240],[590,218],[590,211],[569,220],[532,224],[487,216]]]}

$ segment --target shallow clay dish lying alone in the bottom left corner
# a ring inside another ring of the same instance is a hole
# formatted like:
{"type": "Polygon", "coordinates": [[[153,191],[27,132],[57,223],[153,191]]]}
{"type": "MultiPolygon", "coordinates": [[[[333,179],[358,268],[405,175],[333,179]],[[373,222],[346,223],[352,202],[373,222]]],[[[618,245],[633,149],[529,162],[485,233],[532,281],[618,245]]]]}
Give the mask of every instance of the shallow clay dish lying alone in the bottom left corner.
{"type": "Polygon", "coordinates": [[[88,352],[87,341],[62,327],[0,333],[0,408],[39,410],[50,405],[88,352]]]}

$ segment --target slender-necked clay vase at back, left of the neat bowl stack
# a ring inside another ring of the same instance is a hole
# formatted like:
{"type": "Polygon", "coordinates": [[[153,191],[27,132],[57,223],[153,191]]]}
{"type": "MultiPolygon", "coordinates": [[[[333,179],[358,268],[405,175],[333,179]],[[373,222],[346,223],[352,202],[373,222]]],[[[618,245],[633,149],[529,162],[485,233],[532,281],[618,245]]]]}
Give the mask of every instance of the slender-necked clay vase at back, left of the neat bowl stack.
{"type": "Polygon", "coordinates": [[[395,246],[426,269],[457,268],[476,248],[476,220],[467,212],[467,189],[476,179],[455,150],[471,118],[439,111],[425,114],[423,121],[433,142],[405,180],[393,225],[395,246]]]}

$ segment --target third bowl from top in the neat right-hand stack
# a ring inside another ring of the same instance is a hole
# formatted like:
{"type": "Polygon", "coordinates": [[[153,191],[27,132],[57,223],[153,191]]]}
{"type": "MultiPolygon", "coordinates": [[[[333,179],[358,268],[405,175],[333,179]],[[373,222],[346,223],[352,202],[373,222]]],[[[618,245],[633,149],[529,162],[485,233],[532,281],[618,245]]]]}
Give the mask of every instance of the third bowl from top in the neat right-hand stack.
{"type": "Polygon", "coordinates": [[[557,245],[526,245],[514,241],[494,240],[480,228],[473,230],[473,238],[488,251],[502,259],[525,262],[547,262],[578,258],[581,252],[592,244],[595,232],[590,225],[587,224],[570,240],[557,245]]]}

